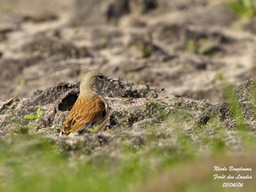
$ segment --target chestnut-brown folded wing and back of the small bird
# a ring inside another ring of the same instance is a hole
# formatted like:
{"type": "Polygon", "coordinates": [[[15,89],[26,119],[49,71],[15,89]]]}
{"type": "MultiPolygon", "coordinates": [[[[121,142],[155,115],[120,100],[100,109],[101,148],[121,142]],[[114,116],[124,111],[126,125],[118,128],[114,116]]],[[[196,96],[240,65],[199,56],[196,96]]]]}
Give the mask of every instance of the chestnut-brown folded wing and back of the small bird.
{"type": "Polygon", "coordinates": [[[106,114],[106,106],[99,97],[78,97],[61,128],[61,134],[88,129],[99,118],[103,118],[104,114],[106,114]]]}

